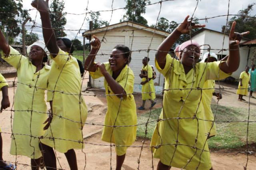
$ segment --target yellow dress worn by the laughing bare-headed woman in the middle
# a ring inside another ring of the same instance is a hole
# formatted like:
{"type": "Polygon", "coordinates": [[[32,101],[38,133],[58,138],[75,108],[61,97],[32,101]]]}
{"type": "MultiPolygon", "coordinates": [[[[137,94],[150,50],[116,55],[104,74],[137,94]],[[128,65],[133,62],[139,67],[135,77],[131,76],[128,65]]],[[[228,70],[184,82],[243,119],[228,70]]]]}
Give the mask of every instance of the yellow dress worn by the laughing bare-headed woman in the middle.
{"type": "MultiPolygon", "coordinates": [[[[109,63],[104,63],[106,70],[110,75],[112,75],[112,70],[109,63]]],[[[100,70],[96,72],[90,72],[90,75],[93,79],[102,77],[100,70]]],[[[104,125],[108,126],[127,126],[127,125],[136,125],[137,124],[137,115],[136,115],[136,104],[134,100],[133,85],[134,85],[134,74],[133,71],[127,65],[122,69],[120,75],[116,78],[116,82],[121,85],[126,91],[127,95],[121,101],[119,97],[115,96],[113,91],[108,86],[106,79],[104,80],[104,87],[106,89],[108,110],[106,113],[104,125]],[[127,80],[127,81],[126,81],[127,80]],[[120,103],[121,101],[121,103],[120,103]],[[119,109],[120,108],[120,109],[119,109]],[[117,118],[117,119],[116,119],[117,118]],[[116,120],[116,123],[115,123],[116,120]],[[115,123],[115,124],[114,124],[115,123]]],[[[105,142],[112,142],[116,145],[130,146],[136,139],[136,126],[132,127],[103,127],[101,139],[105,142]],[[112,134],[112,138],[111,137],[112,134]]],[[[116,154],[118,156],[124,155],[126,153],[127,147],[116,146],[116,154]]]]}

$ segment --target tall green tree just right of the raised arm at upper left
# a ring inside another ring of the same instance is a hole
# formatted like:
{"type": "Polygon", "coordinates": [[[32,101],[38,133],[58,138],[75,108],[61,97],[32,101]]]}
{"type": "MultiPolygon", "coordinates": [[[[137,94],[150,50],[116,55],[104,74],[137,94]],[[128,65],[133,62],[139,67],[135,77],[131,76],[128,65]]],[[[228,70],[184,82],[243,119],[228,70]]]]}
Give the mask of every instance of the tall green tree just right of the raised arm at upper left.
{"type": "Polygon", "coordinates": [[[65,37],[67,34],[63,31],[67,23],[66,13],[63,13],[64,2],[63,0],[54,0],[50,5],[50,19],[52,28],[56,37],[65,37]]]}

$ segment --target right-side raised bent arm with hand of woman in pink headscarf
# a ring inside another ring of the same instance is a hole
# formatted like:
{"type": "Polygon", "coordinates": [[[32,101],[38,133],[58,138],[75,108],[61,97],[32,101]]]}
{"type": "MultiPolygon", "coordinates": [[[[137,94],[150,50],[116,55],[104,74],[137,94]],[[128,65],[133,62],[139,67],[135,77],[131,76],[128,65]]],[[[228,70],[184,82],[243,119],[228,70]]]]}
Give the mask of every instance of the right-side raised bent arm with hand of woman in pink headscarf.
{"type": "Polygon", "coordinates": [[[220,64],[220,69],[225,73],[236,71],[240,63],[239,43],[242,37],[250,32],[237,33],[235,32],[236,22],[233,22],[229,34],[229,55],[226,62],[220,64]]]}

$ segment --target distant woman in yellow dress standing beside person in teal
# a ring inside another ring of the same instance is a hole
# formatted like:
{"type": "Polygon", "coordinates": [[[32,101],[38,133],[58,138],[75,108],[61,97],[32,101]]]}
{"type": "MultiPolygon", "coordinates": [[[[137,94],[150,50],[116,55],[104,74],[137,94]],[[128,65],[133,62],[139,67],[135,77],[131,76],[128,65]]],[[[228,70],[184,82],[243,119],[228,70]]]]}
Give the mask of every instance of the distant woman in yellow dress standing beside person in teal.
{"type": "Polygon", "coordinates": [[[240,81],[238,84],[238,89],[236,91],[236,94],[238,94],[238,100],[239,101],[245,101],[243,99],[243,96],[246,96],[248,94],[248,84],[250,84],[250,74],[249,72],[250,67],[246,66],[245,70],[240,74],[240,81]]]}

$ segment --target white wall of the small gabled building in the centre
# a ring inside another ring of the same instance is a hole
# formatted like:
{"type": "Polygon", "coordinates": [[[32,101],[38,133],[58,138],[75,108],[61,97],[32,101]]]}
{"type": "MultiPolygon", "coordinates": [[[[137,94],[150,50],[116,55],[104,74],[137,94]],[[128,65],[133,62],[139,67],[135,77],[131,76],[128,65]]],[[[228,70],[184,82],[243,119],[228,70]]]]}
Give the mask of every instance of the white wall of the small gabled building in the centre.
{"type": "MultiPolygon", "coordinates": [[[[139,77],[140,70],[142,68],[142,58],[145,56],[148,56],[150,58],[149,64],[154,65],[154,58],[155,58],[155,50],[150,50],[149,53],[146,51],[136,51],[136,50],[147,50],[149,48],[153,33],[148,32],[145,30],[136,30],[134,31],[134,34],[132,32],[122,32],[122,30],[133,30],[130,26],[123,26],[119,28],[114,28],[113,30],[120,30],[118,32],[116,31],[110,31],[106,33],[106,40],[104,40],[106,43],[102,43],[100,50],[98,54],[101,53],[107,53],[110,54],[112,49],[117,44],[124,44],[128,46],[132,51],[132,61],[129,64],[132,71],[134,72],[134,91],[141,91],[140,90],[140,82],[141,78],[139,77]],[[133,40],[133,41],[132,41],[133,40]],[[138,89],[138,90],[136,90],[138,89]]],[[[104,32],[95,33],[98,38],[102,39],[104,32]]],[[[154,34],[154,38],[152,40],[150,49],[157,49],[160,43],[162,43],[163,39],[165,37],[159,34],[154,34]]],[[[97,55],[96,56],[96,62],[107,62],[109,58],[109,55],[97,55]]],[[[156,79],[154,79],[154,84],[156,86],[162,86],[164,81],[162,78],[160,78],[160,73],[155,69],[156,71],[156,79]],[[161,81],[160,81],[161,79],[161,81]]],[[[100,79],[91,79],[92,87],[101,88],[103,87],[103,78],[100,79]]]]}

